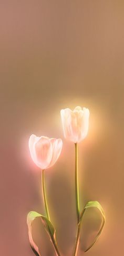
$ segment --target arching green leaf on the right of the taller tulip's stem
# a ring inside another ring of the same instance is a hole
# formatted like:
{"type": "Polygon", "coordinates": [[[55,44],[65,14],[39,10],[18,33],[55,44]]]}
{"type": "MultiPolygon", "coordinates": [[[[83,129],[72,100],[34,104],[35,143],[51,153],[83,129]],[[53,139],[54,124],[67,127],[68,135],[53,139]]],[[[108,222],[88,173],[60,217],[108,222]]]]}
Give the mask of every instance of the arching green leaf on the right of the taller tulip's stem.
{"type": "Polygon", "coordinates": [[[94,207],[94,208],[99,209],[99,211],[100,211],[100,213],[101,213],[101,216],[102,216],[102,222],[101,222],[100,229],[99,229],[99,231],[98,231],[98,233],[97,233],[97,235],[96,235],[96,237],[95,237],[94,242],[92,242],[92,244],[85,250],[85,252],[87,252],[87,251],[97,242],[97,240],[98,240],[98,238],[99,238],[99,236],[100,236],[100,234],[101,234],[101,232],[102,232],[102,229],[103,229],[103,227],[104,227],[104,225],[105,225],[105,214],[104,214],[104,210],[102,209],[101,205],[100,205],[99,202],[97,202],[97,201],[90,201],[90,202],[88,202],[88,203],[85,205],[84,209],[82,210],[82,212],[81,212],[81,214],[80,214],[80,223],[81,223],[81,221],[82,221],[82,217],[84,216],[84,213],[85,213],[86,209],[91,208],[91,207],[94,207]]]}

